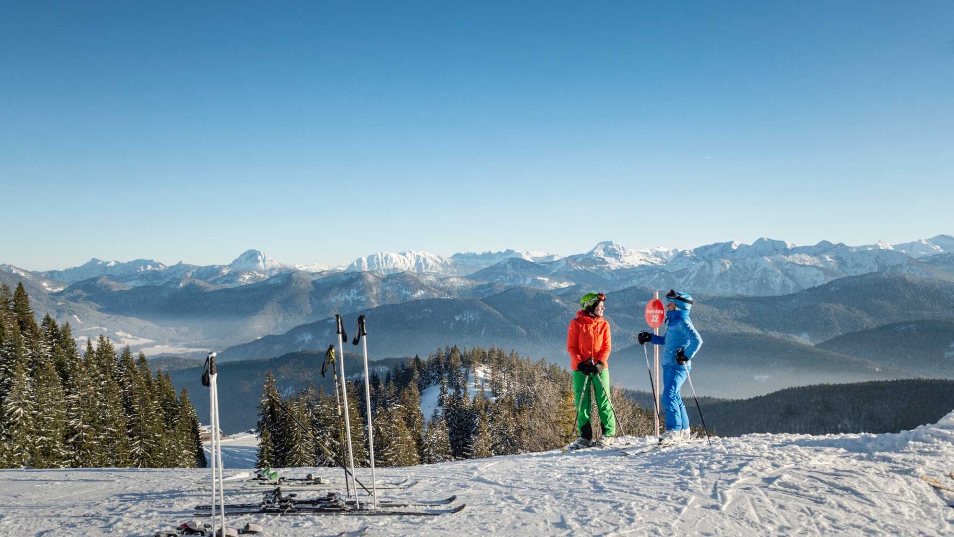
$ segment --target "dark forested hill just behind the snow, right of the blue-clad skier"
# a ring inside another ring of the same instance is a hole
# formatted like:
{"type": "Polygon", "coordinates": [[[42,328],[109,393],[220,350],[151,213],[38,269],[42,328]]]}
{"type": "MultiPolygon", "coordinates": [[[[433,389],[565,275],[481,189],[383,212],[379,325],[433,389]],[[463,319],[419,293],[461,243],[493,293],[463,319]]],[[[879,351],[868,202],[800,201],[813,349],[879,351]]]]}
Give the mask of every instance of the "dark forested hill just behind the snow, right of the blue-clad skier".
{"type": "MultiPolygon", "coordinates": [[[[686,400],[690,410],[695,402],[686,400]]],[[[703,401],[723,437],[747,433],[897,433],[954,409],[954,380],[906,379],[787,388],[748,399],[703,401]]],[[[697,416],[692,416],[693,421],[697,416]]]]}

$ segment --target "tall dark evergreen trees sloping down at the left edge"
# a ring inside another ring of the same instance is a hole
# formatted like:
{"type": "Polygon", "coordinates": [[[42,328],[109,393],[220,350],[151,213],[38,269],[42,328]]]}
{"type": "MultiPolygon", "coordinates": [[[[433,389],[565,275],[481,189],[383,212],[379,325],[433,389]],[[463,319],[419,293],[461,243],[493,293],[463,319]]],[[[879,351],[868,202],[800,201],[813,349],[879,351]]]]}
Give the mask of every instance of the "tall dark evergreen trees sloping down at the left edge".
{"type": "Polygon", "coordinates": [[[0,467],[204,467],[196,410],[144,354],[70,323],[36,323],[23,284],[0,285],[0,467]]]}

